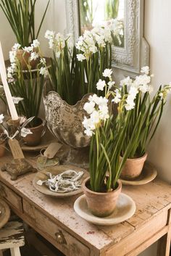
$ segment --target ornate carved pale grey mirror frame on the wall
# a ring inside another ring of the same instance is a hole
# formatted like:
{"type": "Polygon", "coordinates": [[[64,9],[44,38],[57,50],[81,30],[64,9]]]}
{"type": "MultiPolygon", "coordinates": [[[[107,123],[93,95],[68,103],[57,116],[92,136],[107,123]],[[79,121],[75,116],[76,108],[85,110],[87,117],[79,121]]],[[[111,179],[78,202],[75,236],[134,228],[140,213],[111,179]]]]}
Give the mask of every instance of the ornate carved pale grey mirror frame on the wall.
{"type": "MultiPolygon", "coordinates": [[[[65,0],[67,33],[72,33],[75,40],[79,35],[78,0],[65,0]]],[[[149,44],[143,37],[144,0],[125,0],[125,44],[114,46],[112,67],[125,70],[125,75],[137,75],[141,67],[149,65],[149,44]]],[[[118,70],[119,71],[119,70],[118,70]]]]}

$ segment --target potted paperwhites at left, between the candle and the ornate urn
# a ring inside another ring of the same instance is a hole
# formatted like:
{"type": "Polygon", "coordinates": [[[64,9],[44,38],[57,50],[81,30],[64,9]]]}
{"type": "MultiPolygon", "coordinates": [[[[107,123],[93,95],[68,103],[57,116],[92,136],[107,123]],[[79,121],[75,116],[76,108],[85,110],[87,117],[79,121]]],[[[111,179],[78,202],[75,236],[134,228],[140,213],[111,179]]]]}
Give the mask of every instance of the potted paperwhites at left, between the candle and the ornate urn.
{"type": "Polygon", "coordinates": [[[17,47],[15,44],[12,51],[9,53],[11,66],[7,68],[9,78],[9,88],[12,92],[12,96],[17,100],[17,112],[19,115],[23,115],[26,118],[34,117],[29,123],[31,134],[25,137],[25,142],[29,146],[36,146],[41,141],[41,135],[44,130],[44,122],[39,117],[39,110],[42,99],[44,75],[46,70],[43,70],[42,65],[46,62],[46,59],[41,58],[39,54],[38,40],[34,40],[33,44],[28,48],[31,48],[30,58],[28,59],[27,71],[23,72],[21,64],[17,59],[17,47]],[[33,51],[37,47],[38,52],[33,51]],[[30,61],[32,59],[39,59],[37,70],[33,71],[30,67],[30,61]],[[40,74],[41,73],[41,74],[40,74]]]}

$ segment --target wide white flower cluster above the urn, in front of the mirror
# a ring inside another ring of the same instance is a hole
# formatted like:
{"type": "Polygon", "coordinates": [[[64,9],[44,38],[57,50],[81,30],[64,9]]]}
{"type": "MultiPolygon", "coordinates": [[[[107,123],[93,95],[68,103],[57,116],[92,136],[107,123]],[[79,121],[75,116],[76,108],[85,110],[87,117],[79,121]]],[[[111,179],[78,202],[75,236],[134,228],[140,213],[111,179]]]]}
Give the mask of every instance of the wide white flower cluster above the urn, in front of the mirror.
{"type": "Polygon", "coordinates": [[[96,26],[91,31],[85,30],[83,36],[78,38],[76,48],[80,51],[77,54],[80,62],[89,59],[91,54],[95,54],[99,48],[104,48],[107,42],[112,42],[112,34],[118,36],[122,28],[122,22],[117,19],[105,22],[103,26],[96,26]]]}

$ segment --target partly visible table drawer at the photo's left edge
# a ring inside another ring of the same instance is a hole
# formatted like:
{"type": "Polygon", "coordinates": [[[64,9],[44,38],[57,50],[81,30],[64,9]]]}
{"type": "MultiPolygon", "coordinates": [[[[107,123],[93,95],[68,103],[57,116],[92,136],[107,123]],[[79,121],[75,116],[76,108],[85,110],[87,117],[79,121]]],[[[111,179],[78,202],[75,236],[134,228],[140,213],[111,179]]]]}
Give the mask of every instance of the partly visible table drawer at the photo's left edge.
{"type": "Polygon", "coordinates": [[[18,196],[14,191],[12,191],[12,189],[9,189],[2,182],[0,182],[0,191],[1,196],[4,197],[7,202],[9,202],[9,205],[12,205],[12,207],[22,212],[22,198],[20,196],[18,196]]]}

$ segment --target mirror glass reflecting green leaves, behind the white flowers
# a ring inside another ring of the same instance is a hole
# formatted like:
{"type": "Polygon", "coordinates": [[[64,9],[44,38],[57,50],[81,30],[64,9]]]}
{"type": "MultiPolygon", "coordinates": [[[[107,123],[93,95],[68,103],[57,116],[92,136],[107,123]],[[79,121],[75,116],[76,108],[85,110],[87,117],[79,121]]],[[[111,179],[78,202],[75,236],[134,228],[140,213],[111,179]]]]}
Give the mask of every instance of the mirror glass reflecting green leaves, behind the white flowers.
{"type": "Polygon", "coordinates": [[[114,45],[124,47],[124,1],[125,0],[78,0],[80,35],[93,26],[117,18],[123,22],[120,36],[114,38],[114,45]]]}

